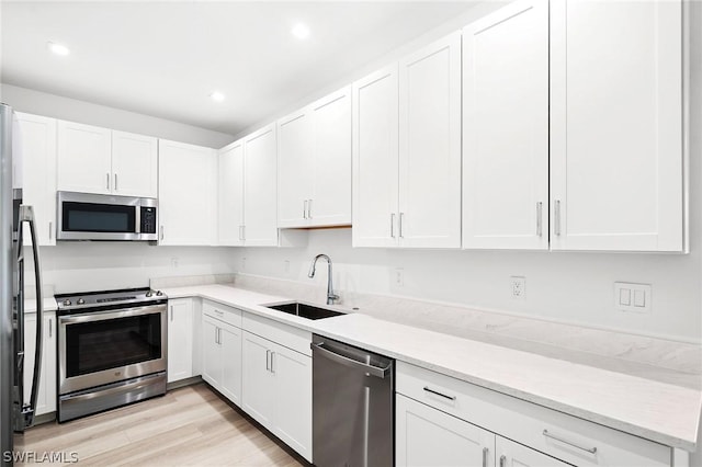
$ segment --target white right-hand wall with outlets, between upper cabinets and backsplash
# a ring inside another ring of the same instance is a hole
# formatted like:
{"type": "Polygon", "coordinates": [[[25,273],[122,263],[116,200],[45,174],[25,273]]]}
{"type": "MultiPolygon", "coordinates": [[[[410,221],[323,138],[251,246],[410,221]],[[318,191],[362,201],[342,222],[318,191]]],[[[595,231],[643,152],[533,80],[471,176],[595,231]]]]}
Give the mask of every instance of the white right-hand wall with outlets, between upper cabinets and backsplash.
{"type": "MultiPolygon", "coordinates": [[[[335,261],[335,281],[341,289],[702,342],[702,3],[691,3],[690,254],[353,249],[350,230],[337,229],[310,231],[305,248],[235,250],[235,266],[250,274],[309,281],[306,274],[312,258],[327,253],[335,261]],[[290,261],[290,272],[285,272],[285,261],[290,261]],[[394,284],[397,267],[404,270],[403,287],[394,284]],[[526,277],[525,300],[510,298],[511,275],[526,277]],[[652,284],[652,311],[615,310],[615,281],[652,284]]],[[[454,23],[449,29],[457,27],[454,23]]],[[[431,32],[423,39],[440,33],[431,32]]],[[[407,47],[395,55],[405,53],[407,47]]],[[[324,287],[326,271],[319,276],[317,283],[324,287]]]]}

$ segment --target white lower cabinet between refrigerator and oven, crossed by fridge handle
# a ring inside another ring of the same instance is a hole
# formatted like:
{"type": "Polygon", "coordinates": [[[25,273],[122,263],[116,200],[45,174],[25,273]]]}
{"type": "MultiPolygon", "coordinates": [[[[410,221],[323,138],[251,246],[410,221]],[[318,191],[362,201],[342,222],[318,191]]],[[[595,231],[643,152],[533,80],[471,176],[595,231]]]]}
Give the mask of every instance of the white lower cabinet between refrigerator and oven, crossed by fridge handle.
{"type": "MultiPolygon", "coordinates": [[[[56,314],[44,312],[42,369],[39,372],[39,389],[36,398],[35,415],[56,411],[56,314]]],[[[24,401],[30,401],[36,349],[36,315],[27,314],[24,318],[24,401]]]]}

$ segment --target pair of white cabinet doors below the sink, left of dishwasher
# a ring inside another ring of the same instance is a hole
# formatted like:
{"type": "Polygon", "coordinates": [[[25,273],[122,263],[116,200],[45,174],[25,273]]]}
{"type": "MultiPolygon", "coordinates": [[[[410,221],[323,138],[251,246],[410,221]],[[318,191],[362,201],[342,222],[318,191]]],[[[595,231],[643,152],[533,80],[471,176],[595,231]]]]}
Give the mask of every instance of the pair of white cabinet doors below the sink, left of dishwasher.
{"type": "Polygon", "coordinates": [[[241,408],[312,462],[312,357],[244,331],[241,408]]]}

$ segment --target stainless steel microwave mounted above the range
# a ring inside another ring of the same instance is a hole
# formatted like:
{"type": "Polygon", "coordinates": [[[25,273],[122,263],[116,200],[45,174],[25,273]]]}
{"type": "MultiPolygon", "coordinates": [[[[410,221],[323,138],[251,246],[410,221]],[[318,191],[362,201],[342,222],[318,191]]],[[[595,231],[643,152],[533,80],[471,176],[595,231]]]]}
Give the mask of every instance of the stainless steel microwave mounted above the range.
{"type": "Polygon", "coordinates": [[[158,201],[58,192],[57,240],[158,240],[158,201]]]}

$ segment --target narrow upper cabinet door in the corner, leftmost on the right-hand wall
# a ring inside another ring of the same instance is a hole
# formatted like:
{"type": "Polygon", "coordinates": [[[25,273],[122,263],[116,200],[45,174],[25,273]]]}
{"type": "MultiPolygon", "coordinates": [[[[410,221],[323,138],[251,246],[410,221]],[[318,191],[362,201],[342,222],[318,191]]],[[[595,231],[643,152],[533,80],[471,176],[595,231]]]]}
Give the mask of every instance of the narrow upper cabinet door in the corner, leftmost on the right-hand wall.
{"type": "Polygon", "coordinates": [[[219,150],[218,230],[220,246],[244,244],[244,141],[219,150]]]}

